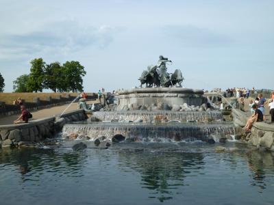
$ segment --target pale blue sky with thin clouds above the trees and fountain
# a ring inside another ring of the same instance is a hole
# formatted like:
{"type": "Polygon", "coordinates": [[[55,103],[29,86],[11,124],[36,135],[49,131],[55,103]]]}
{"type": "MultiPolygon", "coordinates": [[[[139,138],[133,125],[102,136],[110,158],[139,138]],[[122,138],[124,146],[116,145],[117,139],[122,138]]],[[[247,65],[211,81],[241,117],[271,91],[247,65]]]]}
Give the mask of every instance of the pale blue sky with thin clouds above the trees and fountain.
{"type": "Polygon", "coordinates": [[[159,55],[184,87],[274,89],[274,1],[0,0],[5,92],[32,59],[79,61],[84,91],[139,86],[159,55]]]}

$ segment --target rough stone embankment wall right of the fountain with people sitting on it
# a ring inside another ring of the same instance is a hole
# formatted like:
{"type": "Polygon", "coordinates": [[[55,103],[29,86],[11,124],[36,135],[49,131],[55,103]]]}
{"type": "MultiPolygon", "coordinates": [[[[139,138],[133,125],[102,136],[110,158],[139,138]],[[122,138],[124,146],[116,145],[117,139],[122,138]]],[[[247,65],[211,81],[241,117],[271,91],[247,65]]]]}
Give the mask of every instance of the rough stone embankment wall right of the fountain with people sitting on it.
{"type": "Polygon", "coordinates": [[[245,139],[256,148],[265,148],[274,151],[274,124],[266,122],[255,122],[251,133],[245,134],[244,126],[247,123],[247,115],[238,109],[232,109],[234,124],[236,126],[236,137],[245,139]]]}

